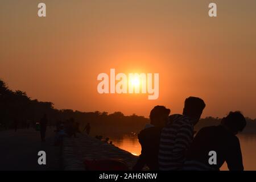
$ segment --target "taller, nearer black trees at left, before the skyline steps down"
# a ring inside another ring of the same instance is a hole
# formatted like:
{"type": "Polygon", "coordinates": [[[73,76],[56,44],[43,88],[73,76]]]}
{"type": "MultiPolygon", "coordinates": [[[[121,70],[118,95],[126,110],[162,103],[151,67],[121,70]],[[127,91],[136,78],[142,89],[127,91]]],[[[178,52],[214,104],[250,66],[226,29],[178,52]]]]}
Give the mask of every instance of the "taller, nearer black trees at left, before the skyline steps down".
{"type": "Polygon", "coordinates": [[[28,121],[39,121],[43,114],[54,116],[58,111],[53,109],[52,102],[31,100],[26,92],[10,90],[5,82],[0,80],[0,125],[6,129],[13,127],[14,121],[19,127],[26,127],[28,121]]]}

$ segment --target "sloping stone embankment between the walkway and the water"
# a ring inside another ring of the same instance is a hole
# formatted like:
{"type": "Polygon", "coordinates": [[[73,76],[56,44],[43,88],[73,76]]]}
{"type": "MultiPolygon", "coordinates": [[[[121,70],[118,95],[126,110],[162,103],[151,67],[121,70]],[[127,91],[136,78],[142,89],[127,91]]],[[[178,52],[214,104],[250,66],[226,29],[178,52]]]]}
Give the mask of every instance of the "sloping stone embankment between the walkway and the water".
{"type": "Polygon", "coordinates": [[[88,135],[80,134],[78,138],[65,138],[63,141],[63,169],[85,170],[85,159],[121,159],[131,169],[138,156],[121,148],[102,142],[88,135]]]}

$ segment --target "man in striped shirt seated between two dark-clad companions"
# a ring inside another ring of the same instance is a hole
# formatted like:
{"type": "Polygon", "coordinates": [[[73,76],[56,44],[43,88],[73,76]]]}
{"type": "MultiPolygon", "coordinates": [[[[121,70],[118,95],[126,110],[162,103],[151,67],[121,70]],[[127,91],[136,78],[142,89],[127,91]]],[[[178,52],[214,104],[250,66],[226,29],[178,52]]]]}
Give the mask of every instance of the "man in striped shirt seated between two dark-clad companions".
{"type": "Polygon", "coordinates": [[[199,122],[205,103],[201,98],[188,97],[185,100],[183,115],[173,114],[162,129],[159,146],[159,169],[163,171],[180,170],[192,139],[193,127],[199,122]]]}

